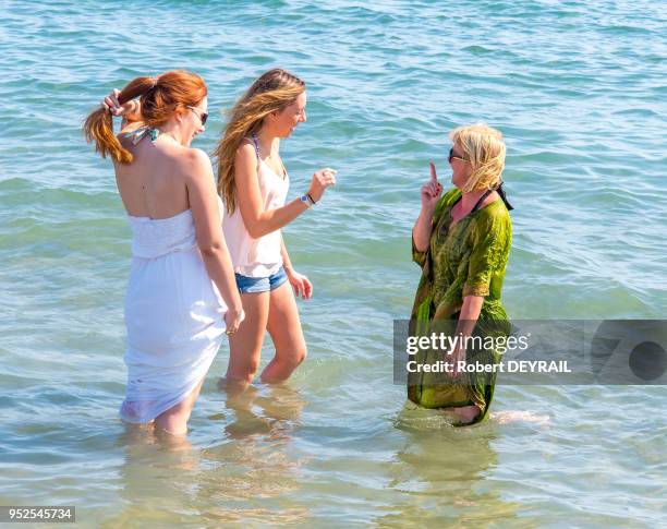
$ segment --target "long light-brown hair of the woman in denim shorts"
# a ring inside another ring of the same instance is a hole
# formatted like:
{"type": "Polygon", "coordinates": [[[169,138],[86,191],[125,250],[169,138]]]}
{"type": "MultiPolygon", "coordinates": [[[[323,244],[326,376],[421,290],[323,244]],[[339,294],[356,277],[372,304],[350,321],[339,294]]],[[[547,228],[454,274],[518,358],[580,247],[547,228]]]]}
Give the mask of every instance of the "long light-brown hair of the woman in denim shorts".
{"type": "Polygon", "coordinates": [[[234,160],[241,142],[262,128],[264,118],[281,111],[305,92],[305,83],[286,70],[276,68],[259,76],[237,101],[222,137],[215,149],[218,161],[218,194],[231,214],[237,207],[234,197],[234,160]]]}

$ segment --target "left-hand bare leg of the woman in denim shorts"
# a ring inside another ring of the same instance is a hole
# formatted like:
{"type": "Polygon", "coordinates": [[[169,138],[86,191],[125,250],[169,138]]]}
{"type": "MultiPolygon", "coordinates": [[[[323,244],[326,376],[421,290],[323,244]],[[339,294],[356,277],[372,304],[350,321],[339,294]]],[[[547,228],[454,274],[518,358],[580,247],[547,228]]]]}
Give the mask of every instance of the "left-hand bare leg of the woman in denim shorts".
{"type": "Polygon", "coordinates": [[[245,320],[233,335],[229,337],[229,365],[226,383],[239,386],[253,382],[266,333],[269,314],[269,292],[242,293],[241,303],[245,320]]]}

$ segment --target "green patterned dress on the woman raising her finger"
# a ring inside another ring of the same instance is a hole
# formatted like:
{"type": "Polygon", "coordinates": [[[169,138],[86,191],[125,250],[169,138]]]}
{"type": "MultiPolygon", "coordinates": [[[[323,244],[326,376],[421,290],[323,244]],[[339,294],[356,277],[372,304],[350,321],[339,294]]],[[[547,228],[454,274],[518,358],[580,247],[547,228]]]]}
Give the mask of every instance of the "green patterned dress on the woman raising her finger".
{"type": "MultiPolygon", "coordinates": [[[[430,232],[429,248],[412,257],[422,267],[422,278],[411,314],[411,334],[419,336],[453,329],[463,297],[484,296],[484,303],[473,336],[505,336],[509,321],[500,302],[500,290],[512,242],[512,225],[502,200],[463,217],[450,229],[451,209],[461,197],[458,189],[448,191],[438,202],[430,232]]],[[[452,332],[453,334],[453,332],[452,332]]],[[[469,348],[466,362],[497,364],[501,356],[495,349],[469,348]]],[[[440,350],[421,350],[415,360],[432,363],[447,359],[440,350]]],[[[454,383],[436,373],[409,373],[408,398],[425,408],[476,405],[484,420],[494,396],[496,373],[464,373],[454,383]],[[449,381],[449,382],[444,382],[449,381]]]]}

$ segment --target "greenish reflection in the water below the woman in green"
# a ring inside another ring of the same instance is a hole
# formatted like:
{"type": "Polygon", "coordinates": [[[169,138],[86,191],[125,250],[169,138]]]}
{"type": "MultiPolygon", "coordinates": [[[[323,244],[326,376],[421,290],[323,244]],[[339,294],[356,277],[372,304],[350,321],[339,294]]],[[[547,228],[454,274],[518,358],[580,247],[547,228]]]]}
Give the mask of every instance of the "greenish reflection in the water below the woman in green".
{"type": "Polygon", "coordinates": [[[387,484],[397,502],[376,527],[466,527],[490,518],[516,525],[519,505],[504,502],[488,480],[498,459],[493,421],[454,428],[441,411],[407,402],[395,425],[405,438],[387,484]]]}

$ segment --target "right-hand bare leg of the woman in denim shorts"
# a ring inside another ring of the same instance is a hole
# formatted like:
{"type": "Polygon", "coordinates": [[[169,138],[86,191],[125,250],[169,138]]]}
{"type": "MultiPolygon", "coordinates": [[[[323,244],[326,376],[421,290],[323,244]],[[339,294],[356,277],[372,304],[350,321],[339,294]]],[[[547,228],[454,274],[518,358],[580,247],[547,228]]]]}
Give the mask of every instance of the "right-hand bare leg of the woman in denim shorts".
{"type": "Polygon", "coordinates": [[[282,382],[306,357],[296,300],[288,281],[271,291],[267,328],[276,346],[276,356],[264,369],[262,381],[282,382]]]}

